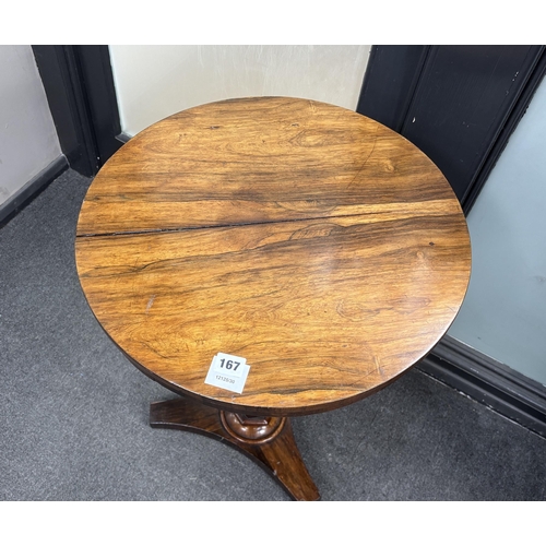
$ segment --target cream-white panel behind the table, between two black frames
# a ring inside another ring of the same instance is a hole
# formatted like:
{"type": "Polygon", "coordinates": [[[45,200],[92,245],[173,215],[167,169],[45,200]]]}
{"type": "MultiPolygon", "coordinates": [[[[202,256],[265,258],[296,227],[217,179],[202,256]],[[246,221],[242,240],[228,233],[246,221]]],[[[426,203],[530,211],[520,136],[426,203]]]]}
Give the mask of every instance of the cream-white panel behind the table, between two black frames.
{"type": "Polygon", "coordinates": [[[109,46],[121,129],[242,96],[294,96],[356,109],[370,46],[109,46]]]}

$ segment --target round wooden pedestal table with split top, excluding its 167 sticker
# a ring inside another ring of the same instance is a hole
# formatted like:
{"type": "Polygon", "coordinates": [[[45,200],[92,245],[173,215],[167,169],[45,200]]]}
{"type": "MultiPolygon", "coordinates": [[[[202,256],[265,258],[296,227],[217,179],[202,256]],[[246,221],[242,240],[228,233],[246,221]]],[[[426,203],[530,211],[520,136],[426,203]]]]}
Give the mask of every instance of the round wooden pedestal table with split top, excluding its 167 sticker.
{"type": "Polygon", "coordinates": [[[289,416],[341,407],[424,357],[455,318],[471,247],[451,187],[400,134],[287,97],[164,119],[98,173],[75,240],[111,340],[182,395],[152,426],[242,450],[317,499],[289,416]],[[205,383],[246,358],[240,393],[205,383]]]}

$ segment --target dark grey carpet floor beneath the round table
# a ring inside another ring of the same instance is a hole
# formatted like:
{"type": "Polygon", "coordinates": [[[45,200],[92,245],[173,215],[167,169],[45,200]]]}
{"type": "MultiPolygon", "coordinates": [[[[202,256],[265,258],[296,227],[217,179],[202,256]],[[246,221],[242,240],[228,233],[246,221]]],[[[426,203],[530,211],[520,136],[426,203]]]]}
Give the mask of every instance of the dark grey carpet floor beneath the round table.
{"type": "MultiPolygon", "coordinates": [[[[175,395],[120,354],[76,276],[90,182],[66,171],[0,228],[0,499],[288,500],[228,446],[147,425],[175,395]]],[[[546,440],[416,369],[293,426],[325,501],[546,499],[546,440]]]]}

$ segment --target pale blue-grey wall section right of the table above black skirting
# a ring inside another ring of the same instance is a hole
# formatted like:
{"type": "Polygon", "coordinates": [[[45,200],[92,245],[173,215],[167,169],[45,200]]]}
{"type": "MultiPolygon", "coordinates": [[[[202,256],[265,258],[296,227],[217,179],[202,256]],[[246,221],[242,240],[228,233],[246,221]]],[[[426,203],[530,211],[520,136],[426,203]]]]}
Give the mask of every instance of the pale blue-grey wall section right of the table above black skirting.
{"type": "Polygon", "coordinates": [[[466,299],[449,334],[546,384],[546,80],[468,214],[466,299]]]}

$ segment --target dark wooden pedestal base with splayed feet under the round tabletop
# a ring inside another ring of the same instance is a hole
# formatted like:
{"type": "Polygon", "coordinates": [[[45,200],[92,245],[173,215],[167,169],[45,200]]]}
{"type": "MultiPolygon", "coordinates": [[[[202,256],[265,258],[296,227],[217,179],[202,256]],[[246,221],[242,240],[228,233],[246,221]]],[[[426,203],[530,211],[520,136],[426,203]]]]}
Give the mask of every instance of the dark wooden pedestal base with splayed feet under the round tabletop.
{"type": "Polygon", "coordinates": [[[150,406],[150,425],[227,441],[271,473],[295,500],[320,498],[287,417],[253,417],[176,399],[153,403],[150,406]]]}

